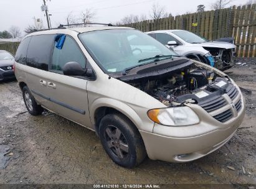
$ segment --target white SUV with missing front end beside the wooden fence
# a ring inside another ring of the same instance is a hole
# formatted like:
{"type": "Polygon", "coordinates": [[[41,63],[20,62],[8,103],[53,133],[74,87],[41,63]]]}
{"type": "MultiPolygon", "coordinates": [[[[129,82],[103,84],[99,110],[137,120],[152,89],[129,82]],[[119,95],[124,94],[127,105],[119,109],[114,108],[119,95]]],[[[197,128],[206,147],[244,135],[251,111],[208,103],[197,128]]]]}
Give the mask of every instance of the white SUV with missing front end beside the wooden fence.
{"type": "Polygon", "coordinates": [[[181,56],[207,63],[219,70],[227,70],[234,65],[234,44],[209,41],[187,30],[158,30],[146,34],[181,56]]]}

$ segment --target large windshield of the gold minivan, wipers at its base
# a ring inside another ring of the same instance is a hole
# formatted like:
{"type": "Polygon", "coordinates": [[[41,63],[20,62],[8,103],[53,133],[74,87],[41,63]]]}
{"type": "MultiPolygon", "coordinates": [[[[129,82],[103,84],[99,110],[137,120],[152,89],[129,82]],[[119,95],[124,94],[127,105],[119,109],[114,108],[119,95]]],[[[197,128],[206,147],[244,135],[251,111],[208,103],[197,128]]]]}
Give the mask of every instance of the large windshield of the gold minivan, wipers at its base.
{"type": "Polygon", "coordinates": [[[177,55],[149,35],[133,29],[97,30],[80,34],[79,38],[107,73],[154,62],[153,57],[161,60],[177,55]]]}

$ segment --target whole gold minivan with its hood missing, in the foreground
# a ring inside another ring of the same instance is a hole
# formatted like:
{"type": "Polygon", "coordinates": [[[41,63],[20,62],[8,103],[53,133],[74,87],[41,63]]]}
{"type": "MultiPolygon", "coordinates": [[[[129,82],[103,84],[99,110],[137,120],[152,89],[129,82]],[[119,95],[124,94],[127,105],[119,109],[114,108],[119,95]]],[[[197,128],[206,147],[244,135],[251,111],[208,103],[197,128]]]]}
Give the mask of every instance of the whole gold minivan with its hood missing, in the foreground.
{"type": "Polygon", "coordinates": [[[146,155],[199,159],[229,141],[245,114],[242,93],[225,73],[128,27],[34,32],[15,61],[29,113],[49,109],[92,129],[123,167],[146,155]]]}

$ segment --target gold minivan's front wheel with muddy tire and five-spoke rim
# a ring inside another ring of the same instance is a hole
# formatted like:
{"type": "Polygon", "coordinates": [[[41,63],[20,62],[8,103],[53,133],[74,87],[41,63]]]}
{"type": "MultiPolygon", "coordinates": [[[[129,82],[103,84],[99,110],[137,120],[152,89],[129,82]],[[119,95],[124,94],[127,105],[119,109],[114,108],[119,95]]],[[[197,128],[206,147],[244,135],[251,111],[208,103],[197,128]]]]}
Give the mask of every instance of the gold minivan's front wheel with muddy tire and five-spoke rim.
{"type": "Polygon", "coordinates": [[[109,157],[121,167],[135,167],[146,157],[140,132],[122,114],[104,116],[100,121],[99,136],[109,157]]]}

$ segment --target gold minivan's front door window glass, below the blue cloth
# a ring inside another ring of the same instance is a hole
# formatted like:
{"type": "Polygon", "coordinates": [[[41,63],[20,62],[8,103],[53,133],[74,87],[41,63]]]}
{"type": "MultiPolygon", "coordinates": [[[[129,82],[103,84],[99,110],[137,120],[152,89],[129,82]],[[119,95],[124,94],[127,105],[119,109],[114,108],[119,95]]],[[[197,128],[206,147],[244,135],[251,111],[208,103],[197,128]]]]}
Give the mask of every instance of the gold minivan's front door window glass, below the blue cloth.
{"type": "Polygon", "coordinates": [[[56,45],[57,42],[55,42],[52,54],[52,70],[62,71],[67,62],[77,62],[82,68],[85,68],[86,59],[75,40],[66,35],[62,47],[57,48],[56,45]]]}

